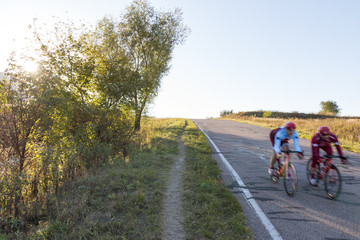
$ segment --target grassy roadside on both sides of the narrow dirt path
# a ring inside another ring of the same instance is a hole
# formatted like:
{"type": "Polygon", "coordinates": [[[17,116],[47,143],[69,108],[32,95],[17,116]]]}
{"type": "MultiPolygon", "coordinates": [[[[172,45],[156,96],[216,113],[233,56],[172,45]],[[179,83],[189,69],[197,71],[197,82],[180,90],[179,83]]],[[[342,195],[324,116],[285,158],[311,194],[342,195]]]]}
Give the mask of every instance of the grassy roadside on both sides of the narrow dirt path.
{"type": "Polygon", "coordinates": [[[109,160],[62,186],[38,226],[14,226],[0,239],[161,239],[169,172],[184,131],[186,239],[252,239],[240,204],[219,179],[206,137],[192,121],[148,119],[143,127],[129,159],[109,160]]]}

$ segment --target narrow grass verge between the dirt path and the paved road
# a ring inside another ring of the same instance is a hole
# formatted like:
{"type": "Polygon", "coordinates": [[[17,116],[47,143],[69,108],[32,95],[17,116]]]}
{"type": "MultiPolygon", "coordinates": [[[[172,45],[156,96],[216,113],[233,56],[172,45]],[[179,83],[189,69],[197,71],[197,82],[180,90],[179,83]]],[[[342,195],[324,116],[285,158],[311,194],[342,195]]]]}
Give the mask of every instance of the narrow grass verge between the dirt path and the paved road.
{"type": "Polygon", "coordinates": [[[206,136],[189,121],[183,141],[187,239],[252,239],[240,203],[220,179],[206,136]]]}

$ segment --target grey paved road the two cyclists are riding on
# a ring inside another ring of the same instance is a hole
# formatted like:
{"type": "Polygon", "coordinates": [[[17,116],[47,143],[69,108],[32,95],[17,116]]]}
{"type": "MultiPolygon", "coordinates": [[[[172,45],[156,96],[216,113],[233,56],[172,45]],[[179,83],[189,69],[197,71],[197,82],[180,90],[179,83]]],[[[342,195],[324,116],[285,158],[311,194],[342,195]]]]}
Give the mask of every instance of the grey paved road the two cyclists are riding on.
{"type": "Polygon", "coordinates": [[[334,160],[344,182],[339,199],[330,200],[322,183],[313,187],[307,182],[305,168],[311,154],[310,141],[300,139],[306,160],[292,159],[299,185],[296,195],[289,197],[282,182],[273,183],[267,173],[271,156],[268,128],[226,120],[196,119],[194,122],[217,146],[219,152],[214,151],[213,155],[222,169],[222,177],[241,202],[248,226],[256,239],[360,239],[359,154],[344,151],[349,156],[349,165],[334,160]],[[245,188],[239,187],[233,174],[223,164],[221,155],[239,175],[245,188]],[[247,190],[252,195],[251,200],[245,199],[247,190]],[[270,227],[264,224],[263,217],[255,213],[259,211],[252,202],[260,207],[260,213],[264,213],[270,227]],[[269,233],[271,227],[273,232],[269,233]],[[278,233],[278,238],[274,237],[274,231],[278,233]]]}

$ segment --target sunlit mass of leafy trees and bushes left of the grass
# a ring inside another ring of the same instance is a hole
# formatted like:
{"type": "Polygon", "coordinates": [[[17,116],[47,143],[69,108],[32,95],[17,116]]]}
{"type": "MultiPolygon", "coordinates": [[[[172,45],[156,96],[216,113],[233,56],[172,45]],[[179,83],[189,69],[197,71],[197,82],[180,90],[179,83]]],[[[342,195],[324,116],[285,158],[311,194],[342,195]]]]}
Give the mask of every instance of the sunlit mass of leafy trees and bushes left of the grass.
{"type": "Polygon", "coordinates": [[[179,9],[158,12],[143,0],[95,27],[58,21],[42,32],[35,20],[31,29],[36,54],[13,53],[0,81],[3,230],[14,219],[37,223],[67,181],[129,154],[189,32],[179,9]],[[26,72],[24,58],[38,71],[26,72]]]}

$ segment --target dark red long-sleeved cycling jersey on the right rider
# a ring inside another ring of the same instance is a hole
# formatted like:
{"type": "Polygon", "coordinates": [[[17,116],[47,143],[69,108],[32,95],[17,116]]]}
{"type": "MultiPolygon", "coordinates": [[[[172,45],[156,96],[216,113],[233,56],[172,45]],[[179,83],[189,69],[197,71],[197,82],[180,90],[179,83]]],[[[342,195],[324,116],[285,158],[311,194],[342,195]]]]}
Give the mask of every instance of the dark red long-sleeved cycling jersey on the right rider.
{"type": "Polygon", "coordinates": [[[339,153],[340,157],[343,157],[343,153],[339,144],[339,141],[335,134],[330,133],[329,139],[324,140],[320,137],[320,133],[316,133],[311,139],[311,150],[312,150],[312,167],[316,166],[317,161],[320,158],[319,150],[320,148],[326,152],[327,155],[332,155],[331,143],[334,143],[336,150],[339,153]]]}

